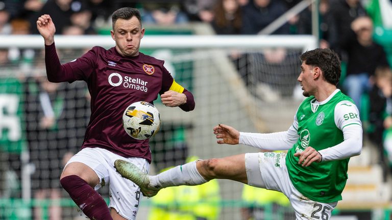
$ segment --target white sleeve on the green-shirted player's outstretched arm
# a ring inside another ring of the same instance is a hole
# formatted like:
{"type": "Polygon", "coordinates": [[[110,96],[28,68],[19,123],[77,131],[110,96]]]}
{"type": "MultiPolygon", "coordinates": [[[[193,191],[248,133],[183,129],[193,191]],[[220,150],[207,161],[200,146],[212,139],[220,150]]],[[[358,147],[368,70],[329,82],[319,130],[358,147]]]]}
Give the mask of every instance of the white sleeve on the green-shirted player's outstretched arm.
{"type": "Polygon", "coordinates": [[[297,114],[287,131],[274,133],[239,132],[239,144],[263,150],[288,150],[298,141],[299,135],[297,114]]]}

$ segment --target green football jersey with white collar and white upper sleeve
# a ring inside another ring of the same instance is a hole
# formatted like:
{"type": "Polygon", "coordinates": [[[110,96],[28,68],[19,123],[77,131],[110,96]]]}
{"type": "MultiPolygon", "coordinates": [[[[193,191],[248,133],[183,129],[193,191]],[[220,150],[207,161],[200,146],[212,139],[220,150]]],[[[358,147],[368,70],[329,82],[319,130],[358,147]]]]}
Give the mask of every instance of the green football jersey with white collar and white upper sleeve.
{"type": "Polygon", "coordinates": [[[340,144],[344,141],[342,130],[346,126],[361,126],[361,122],[353,100],[340,90],[323,102],[317,102],[314,96],[308,97],[298,108],[293,127],[299,139],[287,153],[286,166],[292,184],[313,201],[341,200],[349,158],[313,162],[309,167],[302,167],[294,154],[309,146],[320,151],[340,144]]]}

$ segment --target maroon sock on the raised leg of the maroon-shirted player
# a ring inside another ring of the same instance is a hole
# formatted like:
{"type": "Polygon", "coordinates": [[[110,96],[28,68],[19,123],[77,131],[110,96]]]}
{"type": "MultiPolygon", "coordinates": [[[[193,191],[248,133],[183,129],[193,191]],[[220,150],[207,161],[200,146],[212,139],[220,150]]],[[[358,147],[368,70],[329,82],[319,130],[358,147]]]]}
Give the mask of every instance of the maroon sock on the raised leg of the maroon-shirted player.
{"type": "Polygon", "coordinates": [[[82,178],[76,175],[66,176],[60,183],[87,217],[113,220],[105,200],[82,178]]]}

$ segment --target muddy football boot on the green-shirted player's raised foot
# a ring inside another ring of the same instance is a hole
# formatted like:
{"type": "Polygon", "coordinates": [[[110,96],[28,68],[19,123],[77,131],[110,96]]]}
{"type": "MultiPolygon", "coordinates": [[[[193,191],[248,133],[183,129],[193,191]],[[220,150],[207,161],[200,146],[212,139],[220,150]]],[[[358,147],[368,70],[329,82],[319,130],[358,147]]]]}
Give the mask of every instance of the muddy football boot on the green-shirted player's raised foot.
{"type": "Polygon", "coordinates": [[[118,159],[114,162],[114,167],[122,177],[127,178],[138,185],[143,196],[153,197],[157,195],[158,191],[161,189],[160,187],[150,187],[149,175],[143,173],[133,163],[118,159]]]}

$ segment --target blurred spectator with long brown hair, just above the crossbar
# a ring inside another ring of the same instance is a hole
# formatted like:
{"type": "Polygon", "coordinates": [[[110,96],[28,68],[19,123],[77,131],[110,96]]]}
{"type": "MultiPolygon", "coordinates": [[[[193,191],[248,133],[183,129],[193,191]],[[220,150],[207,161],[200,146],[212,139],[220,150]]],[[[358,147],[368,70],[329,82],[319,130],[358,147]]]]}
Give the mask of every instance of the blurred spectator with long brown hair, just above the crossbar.
{"type": "Polygon", "coordinates": [[[216,34],[241,33],[242,18],[238,0],[217,0],[213,13],[215,17],[211,24],[216,34]]]}

